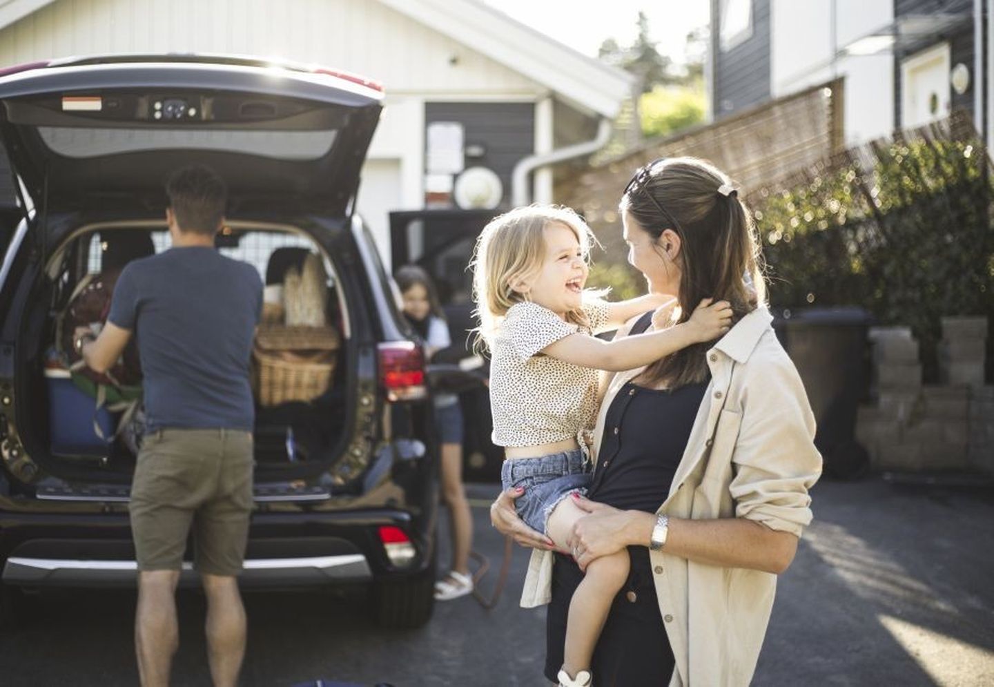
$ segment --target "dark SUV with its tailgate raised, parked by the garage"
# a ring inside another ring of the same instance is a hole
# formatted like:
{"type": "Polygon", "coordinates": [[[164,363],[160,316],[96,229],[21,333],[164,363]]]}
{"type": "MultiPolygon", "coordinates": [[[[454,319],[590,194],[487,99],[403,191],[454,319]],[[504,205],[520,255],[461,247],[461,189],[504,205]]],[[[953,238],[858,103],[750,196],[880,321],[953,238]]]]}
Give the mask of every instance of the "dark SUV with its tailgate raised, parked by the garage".
{"type": "MultiPolygon", "coordinates": [[[[219,250],[266,281],[317,255],[341,339],[324,394],[256,409],[243,586],[366,583],[381,622],[426,621],[437,461],[423,358],[353,213],[381,87],[244,58],[116,56],[0,72],[0,105],[19,199],[0,212],[4,604],[20,588],[135,583],[134,453],[65,440],[96,416],[78,395],[66,402],[48,363],[60,313],[108,243],[143,233],[168,247],[163,181],[196,161],[229,185],[219,250]]],[[[183,584],[193,575],[185,563],[183,584]]]]}

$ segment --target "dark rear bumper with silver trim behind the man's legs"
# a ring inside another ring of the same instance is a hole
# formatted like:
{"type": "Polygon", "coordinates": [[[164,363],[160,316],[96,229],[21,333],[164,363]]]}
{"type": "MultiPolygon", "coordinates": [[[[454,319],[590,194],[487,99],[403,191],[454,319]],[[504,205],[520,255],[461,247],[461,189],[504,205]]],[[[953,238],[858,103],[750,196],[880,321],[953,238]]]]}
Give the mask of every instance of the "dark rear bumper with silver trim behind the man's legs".
{"type": "MultiPolygon", "coordinates": [[[[398,510],[256,512],[240,584],[250,588],[324,587],[398,579],[423,571],[433,538],[423,518],[398,510]],[[416,552],[395,566],[379,538],[384,525],[404,530],[416,552]]],[[[0,581],[21,587],[136,585],[137,564],[126,513],[0,512],[0,581]]],[[[181,586],[199,584],[188,547],[181,586]]]]}

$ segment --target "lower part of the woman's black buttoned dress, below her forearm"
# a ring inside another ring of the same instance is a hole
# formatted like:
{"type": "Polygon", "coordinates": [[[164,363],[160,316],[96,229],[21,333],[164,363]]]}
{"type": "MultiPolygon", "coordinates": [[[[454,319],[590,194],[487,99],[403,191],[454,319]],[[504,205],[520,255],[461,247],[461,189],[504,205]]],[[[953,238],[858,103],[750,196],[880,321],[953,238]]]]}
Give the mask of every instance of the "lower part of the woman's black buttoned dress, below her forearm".
{"type": "MultiPolygon", "coordinates": [[[[590,669],[597,687],[660,687],[669,684],[674,658],[666,636],[644,547],[628,550],[631,572],[611,604],[593,650],[590,669]],[[634,595],[632,601],[632,594],[634,595]]],[[[577,563],[555,554],[552,601],[546,617],[546,677],[553,682],[563,667],[570,601],[583,579],[577,563]]]]}

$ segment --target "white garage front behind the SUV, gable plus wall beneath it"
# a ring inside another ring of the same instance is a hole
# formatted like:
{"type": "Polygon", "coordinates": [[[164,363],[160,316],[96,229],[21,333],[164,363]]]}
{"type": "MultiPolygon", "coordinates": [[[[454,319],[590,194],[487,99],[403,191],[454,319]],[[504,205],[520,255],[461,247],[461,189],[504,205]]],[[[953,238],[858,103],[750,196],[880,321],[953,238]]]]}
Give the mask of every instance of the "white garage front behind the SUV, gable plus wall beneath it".
{"type": "MultiPolygon", "coordinates": [[[[425,101],[518,107],[549,94],[547,86],[373,0],[57,0],[0,30],[0,68],[74,55],[168,52],[279,56],[383,83],[386,111],[357,206],[385,252],[387,211],[423,207],[425,101]],[[396,194],[391,183],[400,185],[396,194]],[[400,205],[381,207],[388,200],[400,205]]],[[[2,155],[0,166],[0,177],[9,176],[2,155]]]]}

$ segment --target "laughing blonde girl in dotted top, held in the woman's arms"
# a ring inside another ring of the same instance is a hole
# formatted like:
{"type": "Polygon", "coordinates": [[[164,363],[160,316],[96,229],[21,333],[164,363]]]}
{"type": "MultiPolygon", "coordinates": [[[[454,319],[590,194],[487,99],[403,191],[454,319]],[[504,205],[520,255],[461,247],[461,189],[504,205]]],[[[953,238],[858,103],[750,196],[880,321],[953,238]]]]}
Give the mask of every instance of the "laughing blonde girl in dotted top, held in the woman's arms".
{"type": "MultiPolygon", "coordinates": [[[[597,371],[630,370],[712,341],[732,317],[729,303],[706,299],[688,322],[663,331],[612,342],[591,336],[662,305],[654,295],[617,303],[588,297],[591,238],[572,210],[518,208],[484,228],[473,262],[480,334],[492,356],[493,441],[506,458],[501,481],[523,491],[518,514],[563,551],[585,514],[570,497],[589,482],[584,432],[597,409],[597,371]]],[[[561,685],[589,685],[590,657],[628,567],[623,550],[587,567],[570,603],[561,685]]]]}

